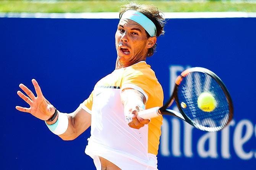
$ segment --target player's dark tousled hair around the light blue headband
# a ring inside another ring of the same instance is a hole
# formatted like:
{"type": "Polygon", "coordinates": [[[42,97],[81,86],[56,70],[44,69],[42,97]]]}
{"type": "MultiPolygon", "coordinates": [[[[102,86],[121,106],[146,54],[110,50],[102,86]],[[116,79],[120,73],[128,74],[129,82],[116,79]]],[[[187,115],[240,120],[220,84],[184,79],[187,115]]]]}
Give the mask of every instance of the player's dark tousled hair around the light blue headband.
{"type": "MultiPolygon", "coordinates": [[[[129,3],[126,5],[121,6],[120,12],[119,12],[119,18],[122,18],[122,15],[127,10],[136,10],[142,14],[144,14],[147,18],[149,18],[156,26],[156,37],[159,37],[160,35],[164,34],[164,24],[165,19],[160,15],[162,13],[161,11],[156,8],[154,5],[139,5],[136,3],[129,3]]],[[[146,31],[146,30],[145,30],[146,31]]],[[[149,33],[146,31],[147,38],[150,37],[149,33]]],[[[147,57],[150,57],[154,54],[154,51],[156,51],[157,43],[148,49],[147,57]]]]}

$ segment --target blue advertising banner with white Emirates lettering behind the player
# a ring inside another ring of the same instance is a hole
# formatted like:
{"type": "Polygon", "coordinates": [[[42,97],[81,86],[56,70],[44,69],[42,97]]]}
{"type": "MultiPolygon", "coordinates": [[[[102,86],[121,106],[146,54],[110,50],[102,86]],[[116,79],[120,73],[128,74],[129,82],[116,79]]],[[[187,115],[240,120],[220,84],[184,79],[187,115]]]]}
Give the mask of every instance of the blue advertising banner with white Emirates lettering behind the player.
{"type": "MultiPolygon", "coordinates": [[[[115,69],[118,19],[0,18],[1,154],[3,170],[93,170],[84,153],[90,129],[63,141],[44,121],[15,106],[36,79],[50,103],[70,113],[98,80],[115,69]]],[[[224,81],[234,117],[220,132],[203,132],[164,116],[159,170],[253,169],[256,165],[256,18],[168,19],[157,51],[147,59],[164,90],[188,67],[205,67],[224,81]]],[[[173,108],[177,109],[177,108],[173,108]]]]}

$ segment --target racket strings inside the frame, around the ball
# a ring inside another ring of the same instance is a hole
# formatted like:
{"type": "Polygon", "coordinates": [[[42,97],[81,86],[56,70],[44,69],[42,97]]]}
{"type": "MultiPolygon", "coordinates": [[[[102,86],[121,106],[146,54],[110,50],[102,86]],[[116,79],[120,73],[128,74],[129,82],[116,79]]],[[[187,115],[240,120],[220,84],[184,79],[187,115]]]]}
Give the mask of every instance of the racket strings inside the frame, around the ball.
{"type": "Polygon", "coordinates": [[[191,72],[181,81],[177,95],[179,102],[186,104],[181,109],[199,129],[215,131],[228,123],[228,100],[220,85],[210,75],[191,72]],[[198,107],[198,97],[203,92],[209,92],[215,98],[216,106],[211,112],[205,112],[198,107]]]}

